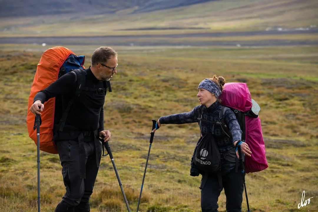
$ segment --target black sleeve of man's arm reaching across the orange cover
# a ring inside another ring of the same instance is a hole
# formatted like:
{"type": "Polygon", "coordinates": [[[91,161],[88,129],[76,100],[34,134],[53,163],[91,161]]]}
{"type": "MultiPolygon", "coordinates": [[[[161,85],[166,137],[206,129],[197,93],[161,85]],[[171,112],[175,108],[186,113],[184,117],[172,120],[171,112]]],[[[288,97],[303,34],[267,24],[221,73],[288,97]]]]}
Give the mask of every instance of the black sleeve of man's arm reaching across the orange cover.
{"type": "Polygon", "coordinates": [[[69,95],[75,92],[77,83],[75,82],[75,74],[67,73],[49,85],[42,91],[39,91],[33,99],[33,102],[40,100],[43,104],[52,97],[58,95],[69,95]]]}

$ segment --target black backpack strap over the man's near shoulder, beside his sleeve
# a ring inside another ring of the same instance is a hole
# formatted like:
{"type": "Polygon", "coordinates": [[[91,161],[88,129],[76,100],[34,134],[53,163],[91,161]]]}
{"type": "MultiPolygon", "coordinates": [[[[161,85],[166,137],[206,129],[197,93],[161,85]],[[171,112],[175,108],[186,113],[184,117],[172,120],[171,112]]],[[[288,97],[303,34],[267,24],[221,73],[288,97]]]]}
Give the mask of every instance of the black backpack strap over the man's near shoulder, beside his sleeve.
{"type": "Polygon", "coordinates": [[[59,131],[63,131],[64,125],[65,125],[65,121],[66,121],[66,118],[67,118],[67,114],[68,114],[68,112],[71,109],[73,101],[77,97],[79,97],[79,94],[82,91],[82,87],[85,85],[85,81],[86,81],[86,71],[84,69],[74,69],[71,73],[75,75],[75,81],[74,82],[77,81],[77,86],[76,86],[76,90],[75,90],[73,98],[71,99],[71,101],[68,102],[66,110],[63,113],[61,120],[59,121],[59,125],[58,125],[59,127],[57,128],[57,130],[59,130],[59,131]]]}

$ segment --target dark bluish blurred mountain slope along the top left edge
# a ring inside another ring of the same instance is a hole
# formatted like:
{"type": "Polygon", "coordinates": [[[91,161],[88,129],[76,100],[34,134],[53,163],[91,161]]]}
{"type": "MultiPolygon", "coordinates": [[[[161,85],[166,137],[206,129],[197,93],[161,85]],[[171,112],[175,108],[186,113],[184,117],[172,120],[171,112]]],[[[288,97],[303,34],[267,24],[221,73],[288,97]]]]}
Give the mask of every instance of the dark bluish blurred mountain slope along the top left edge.
{"type": "Polygon", "coordinates": [[[0,1],[0,17],[22,17],[56,14],[112,14],[131,9],[132,13],[181,7],[213,0],[28,0],[0,1]]]}

